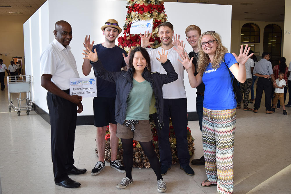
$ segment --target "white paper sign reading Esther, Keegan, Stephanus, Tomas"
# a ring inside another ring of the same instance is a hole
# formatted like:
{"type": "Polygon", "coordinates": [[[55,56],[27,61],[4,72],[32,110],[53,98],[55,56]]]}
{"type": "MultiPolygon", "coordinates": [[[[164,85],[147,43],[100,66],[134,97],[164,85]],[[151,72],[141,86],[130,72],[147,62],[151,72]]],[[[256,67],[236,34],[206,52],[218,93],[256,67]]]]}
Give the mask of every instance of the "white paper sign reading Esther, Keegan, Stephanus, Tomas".
{"type": "Polygon", "coordinates": [[[96,78],[70,78],[70,95],[96,97],[96,78]]]}

